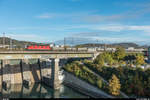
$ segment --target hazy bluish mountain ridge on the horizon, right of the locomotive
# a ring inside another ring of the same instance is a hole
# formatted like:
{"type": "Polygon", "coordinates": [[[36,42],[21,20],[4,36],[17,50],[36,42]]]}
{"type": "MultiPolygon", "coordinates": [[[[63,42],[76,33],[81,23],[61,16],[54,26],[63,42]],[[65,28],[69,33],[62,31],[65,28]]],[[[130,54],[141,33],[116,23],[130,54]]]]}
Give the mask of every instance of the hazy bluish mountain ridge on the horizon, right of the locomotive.
{"type": "MultiPolygon", "coordinates": [[[[62,44],[64,44],[64,40],[59,40],[59,41],[56,41],[55,43],[62,45],[62,44]]],[[[139,45],[139,44],[132,43],[132,42],[110,44],[110,42],[108,42],[108,41],[102,42],[102,41],[92,40],[90,38],[68,38],[65,40],[65,44],[73,45],[73,46],[80,46],[80,47],[101,47],[101,46],[104,46],[105,44],[108,47],[117,47],[117,46],[121,46],[124,48],[127,48],[127,47],[147,48],[148,47],[147,45],[139,45]]]]}

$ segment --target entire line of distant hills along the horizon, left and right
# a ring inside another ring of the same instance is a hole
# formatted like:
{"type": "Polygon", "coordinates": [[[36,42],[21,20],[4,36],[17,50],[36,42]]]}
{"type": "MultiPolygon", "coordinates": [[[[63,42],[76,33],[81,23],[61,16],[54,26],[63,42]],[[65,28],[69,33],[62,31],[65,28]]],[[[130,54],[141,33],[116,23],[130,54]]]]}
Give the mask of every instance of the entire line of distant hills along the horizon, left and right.
{"type": "MultiPolygon", "coordinates": [[[[19,40],[15,40],[15,39],[10,39],[8,37],[5,37],[5,45],[10,45],[10,40],[12,41],[13,45],[16,45],[17,47],[25,47],[25,45],[45,45],[45,44],[49,44],[49,43],[36,43],[36,42],[30,42],[30,41],[19,41],[19,40]]],[[[0,44],[3,44],[3,38],[0,37],[0,44]]],[[[64,40],[60,40],[60,41],[56,41],[55,44],[64,44],[64,40]]],[[[136,43],[113,43],[110,44],[107,41],[105,41],[105,43],[100,43],[98,41],[92,40],[92,39],[85,39],[85,38],[68,38],[65,40],[65,44],[66,45],[73,45],[73,46],[79,46],[79,47],[103,47],[104,45],[106,45],[107,47],[117,47],[117,46],[121,46],[124,48],[127,47],[134,47],[134,48],[139,48],[139,47],[143,47],[143,48],[147,48],[148,45],[138,45],[136,43]]]]}

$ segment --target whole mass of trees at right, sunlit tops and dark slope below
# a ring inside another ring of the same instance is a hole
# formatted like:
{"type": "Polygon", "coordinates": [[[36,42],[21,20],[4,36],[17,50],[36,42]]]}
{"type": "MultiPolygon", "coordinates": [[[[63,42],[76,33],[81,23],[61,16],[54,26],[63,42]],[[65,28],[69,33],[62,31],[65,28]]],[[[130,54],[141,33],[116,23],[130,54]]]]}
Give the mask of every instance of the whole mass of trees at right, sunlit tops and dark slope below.
{"type": "Polygon", "coordinates": [[[121,83],[121,91],[129,96],[150,96],[150,69],[140,67],[145,65],[142,54],[126,54],[122,48],[118,48],[116,52],[104,52],[94,61],[84,61],[84,64],[107,81],[116,75],[121,83]]]}

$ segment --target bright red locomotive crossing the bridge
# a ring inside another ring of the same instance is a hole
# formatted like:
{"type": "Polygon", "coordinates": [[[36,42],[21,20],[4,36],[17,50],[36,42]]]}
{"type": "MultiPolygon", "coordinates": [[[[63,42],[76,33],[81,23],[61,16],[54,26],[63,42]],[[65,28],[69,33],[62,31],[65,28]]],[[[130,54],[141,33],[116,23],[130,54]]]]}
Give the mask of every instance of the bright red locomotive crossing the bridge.
{"type": "Polygon", "coordinates": [[[51,47],[49,45],[31,45],[27,47],[27,50],[51,50],[51,47]]]}

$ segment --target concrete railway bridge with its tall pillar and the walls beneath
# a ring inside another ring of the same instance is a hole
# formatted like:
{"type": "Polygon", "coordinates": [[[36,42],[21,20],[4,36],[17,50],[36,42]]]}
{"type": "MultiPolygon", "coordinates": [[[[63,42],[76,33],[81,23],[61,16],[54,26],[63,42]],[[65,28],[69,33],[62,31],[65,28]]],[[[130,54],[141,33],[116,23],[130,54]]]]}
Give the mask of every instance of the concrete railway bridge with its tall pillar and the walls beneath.
{"type": "Polygon", "coordinates": [[[51,86],[59,89],[61,59],[94,58],[96,55],[87,51],[0,51],[0,86],[41,82],[43,76],[47,76],[51,79],[51,86]],[[46,60],[50,60],[51,64],[46,65],[46,60]]]}

